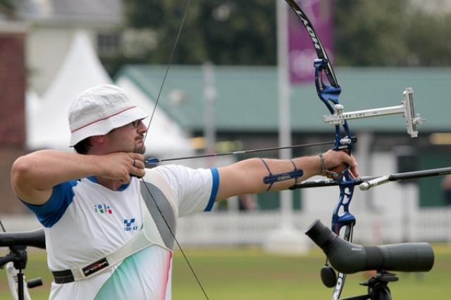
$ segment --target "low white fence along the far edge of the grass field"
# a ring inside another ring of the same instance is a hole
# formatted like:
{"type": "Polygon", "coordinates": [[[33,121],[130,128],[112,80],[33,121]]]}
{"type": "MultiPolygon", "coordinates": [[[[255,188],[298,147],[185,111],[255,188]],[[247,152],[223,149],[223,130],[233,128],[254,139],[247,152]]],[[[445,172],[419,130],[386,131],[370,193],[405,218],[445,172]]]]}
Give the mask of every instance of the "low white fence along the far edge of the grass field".
{"type": "MultiPolygon", "coordinates": [[[[359,213],[355,217],[353,242],[358,244],[451,242],[451,207],[422,208],[404,218],[376,213],[359,213]]],[[[330,215],[312,213],[293,213],[290,225],[302,234],[317,218],[330,225],[330,215]]],[[[40,227],[34,215],[4,215],[0,220],[9,232],[40,227]]],[[[261,246],[270,232],[284,224],[287,222],[278,212],[198,213],[180,218],[177,238],[182,246],[261,246]]]]}

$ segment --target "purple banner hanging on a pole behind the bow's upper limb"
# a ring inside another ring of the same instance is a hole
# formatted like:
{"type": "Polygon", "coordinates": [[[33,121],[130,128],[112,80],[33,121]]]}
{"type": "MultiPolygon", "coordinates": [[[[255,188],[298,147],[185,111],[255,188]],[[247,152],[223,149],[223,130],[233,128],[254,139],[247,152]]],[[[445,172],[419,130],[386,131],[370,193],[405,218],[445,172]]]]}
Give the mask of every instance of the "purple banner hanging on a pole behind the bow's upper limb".
{"type": "MultiPolygon", "coordinates": [[[[307,15],[323,43],[330,63],[333,64],[333,0],[296,1],[307,15]]],[[[292,85],[314,83],[316,51],[304,25],[288,12],[288,57],[292,85]]]]}

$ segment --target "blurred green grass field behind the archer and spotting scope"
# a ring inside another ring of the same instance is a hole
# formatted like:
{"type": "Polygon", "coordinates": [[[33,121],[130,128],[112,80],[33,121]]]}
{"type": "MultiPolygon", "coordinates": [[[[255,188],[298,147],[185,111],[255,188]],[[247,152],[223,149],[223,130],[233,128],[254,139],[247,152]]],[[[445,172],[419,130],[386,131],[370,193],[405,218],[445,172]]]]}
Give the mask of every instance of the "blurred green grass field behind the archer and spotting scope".
{"type": "MultiPolygon", "coordinates": [[[[433,245],[435,263],[428,273],[397,273],[400,280],[388,286],[393,299],[451,299],[451,246],[433,245]]],[[[8,249],[1,249],[1,255],[8,249]]],[[[210,300],[330,299],[333,289],[324,287],[319,272],[325,256],[319,249],[307,256],[266,254],[258,248],[184,249],[210,300]]],[[[28,251],[28,279],[42,277],[44,286],[30,289],[33,300],[48,299],[51,273],[46,254],[28,251]]],[[[359,285],[368,274],[348,275],[342,298],[364,294],[359,285]]],[[[0,299],[12,299],[6,271],[0,270],[0,299]]],[[[173,258],[173,299],[206,299],[180,251],[173,258]]]]}

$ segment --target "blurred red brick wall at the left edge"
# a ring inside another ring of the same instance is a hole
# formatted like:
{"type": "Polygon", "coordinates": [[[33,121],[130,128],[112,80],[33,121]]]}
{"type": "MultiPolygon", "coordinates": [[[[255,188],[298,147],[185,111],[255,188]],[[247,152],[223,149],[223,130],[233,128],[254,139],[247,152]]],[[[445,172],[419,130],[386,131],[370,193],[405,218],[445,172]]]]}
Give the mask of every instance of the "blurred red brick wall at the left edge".
{"type": "Polygon", "coordinates": [[[27,208],[11,188],[11,166],[25,154],[25,32],[0,32],[0,216],[27,208]]]}

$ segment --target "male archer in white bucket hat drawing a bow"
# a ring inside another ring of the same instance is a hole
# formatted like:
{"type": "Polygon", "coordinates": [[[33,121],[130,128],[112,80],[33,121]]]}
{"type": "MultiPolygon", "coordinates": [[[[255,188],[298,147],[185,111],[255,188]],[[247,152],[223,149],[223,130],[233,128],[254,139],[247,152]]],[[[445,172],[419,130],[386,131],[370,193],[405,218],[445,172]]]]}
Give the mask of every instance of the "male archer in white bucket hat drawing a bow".
{"type": "Polygon", "coordinates": [[[123,89],[92,87],[68,111],[70,146],[77,153],[35,151],[13,164],[13,190],[44,226],[55,278],[51,299],[171,299],[178,218],[210,211],[230,196],[330,176],[327,170],[344,165],[358,176],[354,158],[342,151],[250,158],[224,168],[146,169],[146,117],[123,89]],[[264,182],[287,173],[295,176],[264,182]]]}

